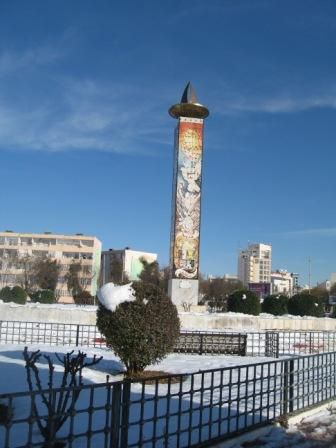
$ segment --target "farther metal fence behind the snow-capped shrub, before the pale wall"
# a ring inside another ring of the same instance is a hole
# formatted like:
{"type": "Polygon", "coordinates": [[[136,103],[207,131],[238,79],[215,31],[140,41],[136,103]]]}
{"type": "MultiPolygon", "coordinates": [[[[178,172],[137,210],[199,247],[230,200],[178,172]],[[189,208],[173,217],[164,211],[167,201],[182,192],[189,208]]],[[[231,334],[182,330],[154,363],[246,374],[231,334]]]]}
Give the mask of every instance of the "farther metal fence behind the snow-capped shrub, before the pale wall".
{"type": "MultiPolygon", "coordinates": [[[[106,347],[95,325],[0,321],[0,344],[106,347]]],[[[336,351],[335,331],[181,331],[176,352],[278,358],[336,351]]]]}

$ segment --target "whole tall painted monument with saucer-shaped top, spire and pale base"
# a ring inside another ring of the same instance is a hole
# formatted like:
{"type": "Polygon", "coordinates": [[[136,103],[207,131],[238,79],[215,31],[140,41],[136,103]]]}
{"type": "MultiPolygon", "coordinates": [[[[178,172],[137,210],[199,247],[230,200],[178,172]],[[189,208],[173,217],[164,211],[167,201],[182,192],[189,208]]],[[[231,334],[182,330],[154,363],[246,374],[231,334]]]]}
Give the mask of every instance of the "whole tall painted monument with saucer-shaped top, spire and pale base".
{"type": "Polygon", "coordinates": [[[209,115],[187,84],[181,102],[169,109],[175,130],[170,280],[175,305],[197,305],[201,220],[203,123],[209,115]]]}

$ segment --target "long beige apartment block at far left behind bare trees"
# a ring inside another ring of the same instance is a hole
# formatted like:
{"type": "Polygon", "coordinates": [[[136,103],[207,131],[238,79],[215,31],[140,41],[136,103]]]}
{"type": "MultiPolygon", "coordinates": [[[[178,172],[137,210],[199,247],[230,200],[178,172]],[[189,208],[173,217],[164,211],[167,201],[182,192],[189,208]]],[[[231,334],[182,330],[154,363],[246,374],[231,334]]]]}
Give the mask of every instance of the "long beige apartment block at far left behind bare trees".
{"type": "Polygon", "coordinates": [[[59,302],[73,302],[65,275],[74,263],[83,266],[80,273],[83,288],[92,295],[96,294],[101,259],[101,242],[96,237],[80,233],[59,235],[51,232],[0,232],[0,288],[22,283],[23,269],[17,267],[15,260],[25,256],[48,257],[61,265],[56,287],[59,302]]]}

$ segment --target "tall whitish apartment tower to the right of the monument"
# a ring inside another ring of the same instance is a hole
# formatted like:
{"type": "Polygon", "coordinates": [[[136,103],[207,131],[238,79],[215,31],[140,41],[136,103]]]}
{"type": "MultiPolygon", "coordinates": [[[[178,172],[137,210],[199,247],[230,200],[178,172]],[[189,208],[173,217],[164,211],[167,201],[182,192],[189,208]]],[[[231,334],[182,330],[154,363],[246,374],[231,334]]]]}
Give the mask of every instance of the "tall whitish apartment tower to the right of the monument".
{"type": "Polygon", "coordinates": [[[238,256],[238,279],[245,287],[250,283],[271,283],[272,246],[249,244],[238,256]]]}

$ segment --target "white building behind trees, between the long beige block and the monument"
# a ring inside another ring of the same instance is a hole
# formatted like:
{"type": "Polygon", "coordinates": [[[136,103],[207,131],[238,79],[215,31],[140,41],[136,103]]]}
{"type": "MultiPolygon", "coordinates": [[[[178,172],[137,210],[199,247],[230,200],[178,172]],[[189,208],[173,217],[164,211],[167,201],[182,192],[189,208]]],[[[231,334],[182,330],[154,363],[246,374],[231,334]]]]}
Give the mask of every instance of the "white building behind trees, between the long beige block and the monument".
{"type": "Polygon", "coordinates": [[[122,275],[129,280],[138,280],[143,269],[141,259],[144,258],[148,263],[157,260],[157,254],[151,252],[142,252],[132,250],[130,247],[125,249],[109,249],[102,252],[101,259],[101,284],[108,283],[111,280],[112,264],[119,261],[122,265],[122,275]]]}

